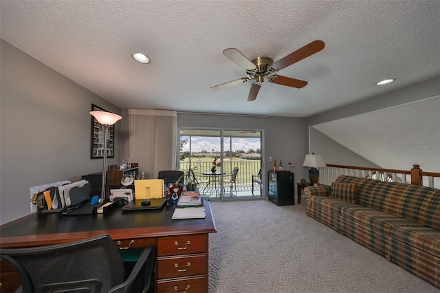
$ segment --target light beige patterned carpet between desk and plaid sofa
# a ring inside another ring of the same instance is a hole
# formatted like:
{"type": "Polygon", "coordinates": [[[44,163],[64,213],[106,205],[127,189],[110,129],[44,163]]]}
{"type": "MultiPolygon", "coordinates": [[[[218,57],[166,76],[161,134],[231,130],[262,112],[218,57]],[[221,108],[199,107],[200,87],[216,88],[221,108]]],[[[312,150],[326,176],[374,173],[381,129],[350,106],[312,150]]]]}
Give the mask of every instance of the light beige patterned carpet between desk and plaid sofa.
{"type": "Polygon", "coordinates": [[[307,217],[303,200],[211,202],[210,293],[439,292],[307,217]]]}

